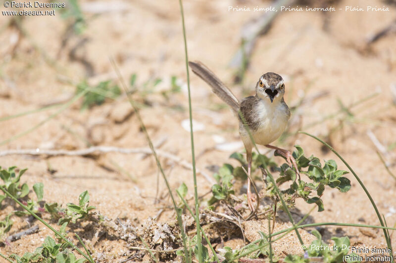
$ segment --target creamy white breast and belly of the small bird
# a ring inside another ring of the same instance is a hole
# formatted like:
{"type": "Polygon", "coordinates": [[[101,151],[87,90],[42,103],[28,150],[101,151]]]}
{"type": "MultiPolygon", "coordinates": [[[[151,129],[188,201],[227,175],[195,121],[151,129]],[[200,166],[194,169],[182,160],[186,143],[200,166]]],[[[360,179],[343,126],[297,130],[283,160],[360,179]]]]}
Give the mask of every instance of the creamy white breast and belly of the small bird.
{"type": "Polygon", "coordinates": [[[290,118],[289,109],[284,102],[262,100],[256,105],[256,112],[261,124],[252,134],[254,141],[261,145],[270,144],[285,131],[290,118]]]}

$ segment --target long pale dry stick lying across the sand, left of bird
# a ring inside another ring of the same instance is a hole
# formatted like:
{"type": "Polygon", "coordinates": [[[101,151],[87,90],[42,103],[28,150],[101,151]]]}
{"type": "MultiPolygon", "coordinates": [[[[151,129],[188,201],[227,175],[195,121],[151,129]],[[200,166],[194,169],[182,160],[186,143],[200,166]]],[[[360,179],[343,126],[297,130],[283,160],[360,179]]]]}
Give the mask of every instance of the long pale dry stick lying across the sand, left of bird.
{"type": "MultiPolygon", "coordinates": [[[[193,165],[191,163],[180,158],[177,155],[174,155],[170,152],[163,151],[163,150],[155,150],[155,151],[158,156],[172,160],[184,168],[187,168],[190,170],[193,169],[193,165]]],[[[3,151],[0,151],[0,157],[6,156],[6,155],[75,156],[75,155],[88,155],[88,154],[93,154],[96,152],[98,152],[98,153],[118,152],[118,153],[125,153],[125,154],[129,154],[129,153],[153,154],[152,150],[147,147],[145,147],[145,148],[120,148],[120,147],[111,147],[111,146],[95,146],[95,147],[90,147],[90,148],[80,149],[80,150],[40,150],[39,148],[26,149],[26,150],[3,150],[3,151]]],[[[206,174],[205,172],[203,172],[199,169],[197,169],[197,172],[199,174],[201,174],[206,179],[206,181],[208,181],[210,184],[215,184],[213,179],[211,179],[208,174],[206,174]]]]}

